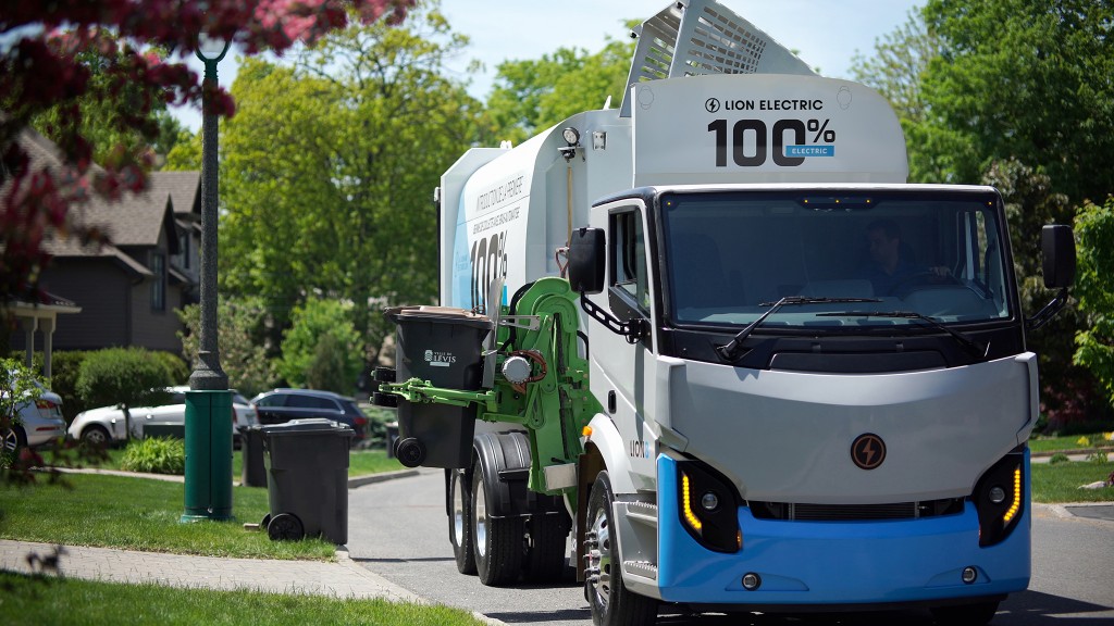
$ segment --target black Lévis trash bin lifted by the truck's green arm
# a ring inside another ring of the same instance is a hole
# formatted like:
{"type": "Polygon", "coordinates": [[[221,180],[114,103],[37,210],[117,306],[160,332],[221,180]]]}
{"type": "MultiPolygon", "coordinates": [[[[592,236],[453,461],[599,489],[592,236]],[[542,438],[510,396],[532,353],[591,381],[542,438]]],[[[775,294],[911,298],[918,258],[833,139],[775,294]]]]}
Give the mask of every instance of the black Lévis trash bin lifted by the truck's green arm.
{"type": "MultiPolygon", "coordinates": [[[[491,320],[463,309],[400,306],[388,309],[395,333],[395,380],[418,378],[433,387],[476,391],[483,382],[483,339],[491,320]]],[[[463,468],[471,459],[476,405],[399,402],[399,450],[417,440],[420,463],[463,468]]]]}

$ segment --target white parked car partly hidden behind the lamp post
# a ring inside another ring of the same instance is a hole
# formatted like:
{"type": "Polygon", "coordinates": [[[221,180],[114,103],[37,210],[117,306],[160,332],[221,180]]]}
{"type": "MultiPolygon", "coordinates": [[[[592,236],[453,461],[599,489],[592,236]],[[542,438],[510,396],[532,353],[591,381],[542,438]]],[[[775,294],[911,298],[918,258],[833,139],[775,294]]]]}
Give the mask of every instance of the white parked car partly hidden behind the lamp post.
{"type": "MultiPolygon", "coordinates": [[[[150,433],[158,437],[185,437],[186,392],[189,387],[167,388],[169,401],[159,407],[133,407],[131,437],[143,439],[150,433]]],[[[240,443],[240,431],[260,423],[255,407],[240,393],[232,395],[233,444],[240,443]]],[[[110,446],[124,442],[124,411],[116,407],[89,409],[77,414],[67,434],[70,439],[94,446],[110,446]]]]}

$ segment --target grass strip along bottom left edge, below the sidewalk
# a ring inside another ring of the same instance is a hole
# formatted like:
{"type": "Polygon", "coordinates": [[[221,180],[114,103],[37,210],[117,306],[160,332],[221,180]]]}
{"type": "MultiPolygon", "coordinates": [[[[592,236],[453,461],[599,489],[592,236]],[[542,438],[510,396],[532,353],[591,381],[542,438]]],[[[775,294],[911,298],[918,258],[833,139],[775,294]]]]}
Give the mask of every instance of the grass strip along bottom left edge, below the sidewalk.
{"type": "Polygon", "coordinates": [[[0,615],[12,626],[41,624],[374,624],[477,626],[467,612],[381,599],[341,599],[257,591],[178,589],[0,571],[0,615]]]}

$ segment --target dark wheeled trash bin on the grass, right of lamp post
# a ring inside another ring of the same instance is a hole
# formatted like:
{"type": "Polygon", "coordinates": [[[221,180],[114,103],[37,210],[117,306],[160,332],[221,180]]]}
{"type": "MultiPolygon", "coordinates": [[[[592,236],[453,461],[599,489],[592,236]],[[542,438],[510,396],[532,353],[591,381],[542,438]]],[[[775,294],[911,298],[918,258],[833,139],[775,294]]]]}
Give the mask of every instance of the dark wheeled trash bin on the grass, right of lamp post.
{"type": "Polygon", "coordinates": [[[314,418],[263,427],[267,501],[263,518],[272,540],[317,535],[348,542],[348,424],[314,418]]]}

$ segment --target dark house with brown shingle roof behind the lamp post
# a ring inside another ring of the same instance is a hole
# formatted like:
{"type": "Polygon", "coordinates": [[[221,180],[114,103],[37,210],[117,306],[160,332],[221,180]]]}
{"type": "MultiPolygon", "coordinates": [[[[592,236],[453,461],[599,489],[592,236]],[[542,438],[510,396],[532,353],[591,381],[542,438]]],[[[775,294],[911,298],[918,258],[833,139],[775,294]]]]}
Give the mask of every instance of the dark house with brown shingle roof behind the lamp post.
{"type": "MultiPolygon", "coordinates": [[[[28,129],[20,141],[36,165],[61,163],[38,133],[28,129]]],[[[198,301],[199,187],[197,172],[155,172],[145,193],[126,193],[115,203],[94,197],[72,207],[71,217],[97,226],[110,243],[82,245],[60,235],[45,242],[53,258],[39,288],[79,312],[67,311],[71,314],[53,324],[52,339],[43,336],[41,343],[25,325],[12,336],[12,348],[30,353],[47,344],[53,350],[141,346],[180,353],[183,324],[175,310],[198,301]]]]}

